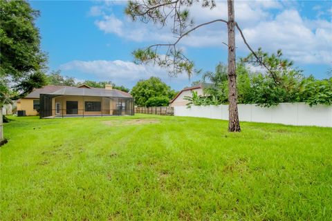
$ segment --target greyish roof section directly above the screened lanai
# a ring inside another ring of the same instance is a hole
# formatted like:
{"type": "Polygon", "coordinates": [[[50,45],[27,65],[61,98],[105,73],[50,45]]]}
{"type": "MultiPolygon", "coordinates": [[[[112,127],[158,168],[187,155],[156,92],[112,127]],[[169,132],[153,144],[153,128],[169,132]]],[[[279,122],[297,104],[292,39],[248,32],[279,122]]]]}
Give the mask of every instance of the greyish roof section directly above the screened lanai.
{"type": "Polygon", "coordinates": [[[45,93],[49,95],[75,95],[75,96],[93,96],[93,97],[132,97],[129,93],[121,90],[104,88],[73,88],[65,87],[54,91],[53,93],[45,93]]]}

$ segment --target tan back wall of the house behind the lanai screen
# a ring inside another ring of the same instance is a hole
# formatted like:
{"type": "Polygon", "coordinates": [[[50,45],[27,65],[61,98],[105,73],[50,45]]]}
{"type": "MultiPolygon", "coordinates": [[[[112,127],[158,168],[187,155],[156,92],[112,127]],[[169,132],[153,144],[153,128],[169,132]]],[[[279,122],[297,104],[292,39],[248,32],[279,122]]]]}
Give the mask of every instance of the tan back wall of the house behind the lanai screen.
{"type": "Polygon", "coordinates": [[[113,115],[116,108],[116,102],[107,97],[90,97],[90,96],[59,96],[52,99],[52,115],[67,115],[66,102],[77,102],[77,115],[113,115]],[[101,102],[102,111],[84,111],[84,102],[101,102]],[[60,113],[55,114],[55,104],[60,104],[60,113]],[[62,113],[63,112],[63,113],[62,113]]]}

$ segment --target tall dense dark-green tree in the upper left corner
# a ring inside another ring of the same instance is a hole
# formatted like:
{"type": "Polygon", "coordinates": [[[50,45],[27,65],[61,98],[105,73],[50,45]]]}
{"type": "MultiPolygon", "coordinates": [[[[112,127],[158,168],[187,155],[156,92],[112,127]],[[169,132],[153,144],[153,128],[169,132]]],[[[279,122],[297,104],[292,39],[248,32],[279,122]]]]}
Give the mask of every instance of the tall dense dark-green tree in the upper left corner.
{"type": "Polygon", "coordinates": [[[39,11],[27,1],[0,1],[0,75],[15,81],[45,68],[35,19],[39,11]]]}

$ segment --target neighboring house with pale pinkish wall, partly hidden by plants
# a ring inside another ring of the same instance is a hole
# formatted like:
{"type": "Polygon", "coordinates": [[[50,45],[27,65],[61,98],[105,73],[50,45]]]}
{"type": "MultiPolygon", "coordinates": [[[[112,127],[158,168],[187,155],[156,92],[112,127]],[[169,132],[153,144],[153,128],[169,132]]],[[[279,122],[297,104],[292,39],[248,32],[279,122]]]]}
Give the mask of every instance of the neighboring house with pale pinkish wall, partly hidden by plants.
{"type": "Polygon", "coordinates": [[[211,86],[212,84],[200,83],[196,86],[183,88],[174,99],[169,102],[169,106],[185,106],[189,101],[185,100],[186,96],[192,97],[192,91],[196,91],[197,95],[204,96],[204,88],[211,86]]]}

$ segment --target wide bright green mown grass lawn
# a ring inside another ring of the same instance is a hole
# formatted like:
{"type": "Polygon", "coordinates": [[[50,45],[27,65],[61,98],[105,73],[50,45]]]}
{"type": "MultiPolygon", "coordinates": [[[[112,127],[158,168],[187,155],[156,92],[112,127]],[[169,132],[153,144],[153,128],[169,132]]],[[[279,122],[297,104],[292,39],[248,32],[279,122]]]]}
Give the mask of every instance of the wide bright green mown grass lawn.
{"type": "Polygon", "coordinates": [[[332,128],[12,117],[0,220],[330,220],[332,128]]]}

